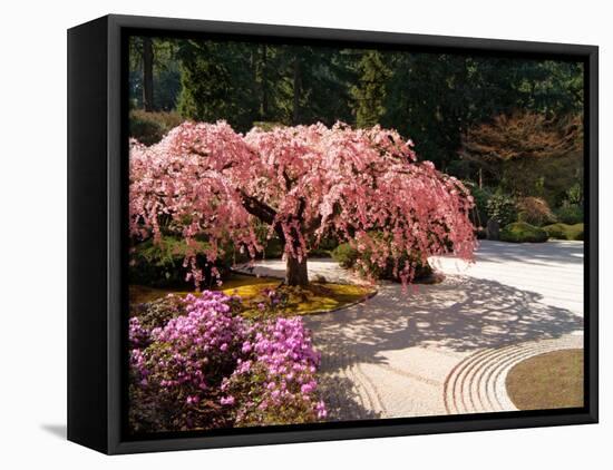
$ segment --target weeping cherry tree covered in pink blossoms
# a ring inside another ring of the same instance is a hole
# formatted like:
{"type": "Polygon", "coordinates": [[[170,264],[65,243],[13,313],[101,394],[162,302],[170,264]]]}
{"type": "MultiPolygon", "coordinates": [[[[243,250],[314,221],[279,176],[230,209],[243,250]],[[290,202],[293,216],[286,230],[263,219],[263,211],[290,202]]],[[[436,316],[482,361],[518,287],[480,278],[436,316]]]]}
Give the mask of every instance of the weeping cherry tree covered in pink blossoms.
{"type": "Polygon", "coordinates": [[[158,241],[162,227],[179,232],[196,285],[196,237],[207,241],[208,263],[227,241],[254,258],[264,249],[262,224],[266,241],[276,236],[284,247],[289,285],[308,284],[306,258],[323,237],[368,253],[366,270],[391,258],[406,285],[429,256],[470,260],[476,243],[468,190],[418,163],[411,147],[379,126],[254,128],[243,136],[225,121],[187,121],[149,147],[132,140],[130,233],[158,241]]]}

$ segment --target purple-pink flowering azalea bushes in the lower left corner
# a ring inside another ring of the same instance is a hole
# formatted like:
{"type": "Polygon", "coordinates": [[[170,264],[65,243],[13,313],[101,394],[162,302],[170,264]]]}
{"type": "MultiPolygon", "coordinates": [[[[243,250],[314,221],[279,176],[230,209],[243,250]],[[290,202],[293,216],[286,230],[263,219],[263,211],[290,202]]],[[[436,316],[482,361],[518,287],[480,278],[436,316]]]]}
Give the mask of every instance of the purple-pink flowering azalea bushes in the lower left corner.
{"type": "Polygon", "coordinates": [[[236,297],[188,295],[185,314],[147,330],[129,325],[130,425],[135,431],[310,422],[318,354],[300,319],[251,323],[236,297]]]}

